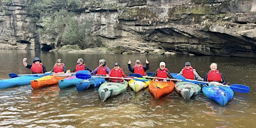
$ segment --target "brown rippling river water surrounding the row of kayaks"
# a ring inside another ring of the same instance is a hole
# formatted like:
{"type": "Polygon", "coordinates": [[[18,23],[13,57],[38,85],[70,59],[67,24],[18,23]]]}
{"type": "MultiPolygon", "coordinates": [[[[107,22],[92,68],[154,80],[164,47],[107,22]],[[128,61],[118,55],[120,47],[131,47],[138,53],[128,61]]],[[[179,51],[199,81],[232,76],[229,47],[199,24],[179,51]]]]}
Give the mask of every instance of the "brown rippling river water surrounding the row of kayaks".
{"type": "Polygon", "coordinates": [[[187,55],[91,55],[0,50],[0,78],[8,73],[31,73],[22,59],[32,63],[40,57],[47,71],[58,58],[74,70],[78,58],[83,58],[92,70],[104,58],[112,68],[120,62],[129,75],[127,62],[145,59],[154,72],[165,61],[170,72],[178,73],[186,61],[191,62],[201,77],[209,71],[211,62],[218,63],[229,85],[250,86],[250,93],[235,92],[232,101],[221,107],[203,93],[185,101],[175,91],[155,100],[148,88],[126,92],[101,102],[97,88],[78,92],[75,87],[60,90],[58,85],[33,90],[31,85],[0,90],[0,127],[255,127],[256,121],[256,60],[255,58],[212,57],[187,55]]]}

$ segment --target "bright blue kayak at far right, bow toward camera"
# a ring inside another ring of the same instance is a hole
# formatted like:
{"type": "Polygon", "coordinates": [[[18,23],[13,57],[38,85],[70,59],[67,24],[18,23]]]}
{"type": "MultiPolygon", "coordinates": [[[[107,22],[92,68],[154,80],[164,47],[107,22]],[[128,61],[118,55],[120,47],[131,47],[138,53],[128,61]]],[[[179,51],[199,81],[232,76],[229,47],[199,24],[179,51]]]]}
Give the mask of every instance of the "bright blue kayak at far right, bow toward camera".
{"type": "Polygon", "coordinates": [[[202,90],[206,97],[220,106],[225,106],[234,96],[234,91],[227,86],[204,85],[202,90]]]}

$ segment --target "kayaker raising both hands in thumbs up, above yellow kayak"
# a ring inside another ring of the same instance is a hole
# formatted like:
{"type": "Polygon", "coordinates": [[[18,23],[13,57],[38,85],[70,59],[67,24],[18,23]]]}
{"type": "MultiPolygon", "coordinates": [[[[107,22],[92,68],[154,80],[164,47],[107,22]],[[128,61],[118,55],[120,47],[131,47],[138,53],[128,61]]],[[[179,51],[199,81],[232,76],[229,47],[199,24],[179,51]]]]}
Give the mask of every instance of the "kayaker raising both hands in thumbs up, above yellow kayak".
{"type": "Polygon", "coordinates": [[[129,71],[132,73],[138,73],[142,76],[146,76],[146,70],[149,70],[149,61],[146,59],[146,66],[141,65],[140,60],[135,61],[134,67],[131,67],[131,60],[128,62],[129,71]]]}

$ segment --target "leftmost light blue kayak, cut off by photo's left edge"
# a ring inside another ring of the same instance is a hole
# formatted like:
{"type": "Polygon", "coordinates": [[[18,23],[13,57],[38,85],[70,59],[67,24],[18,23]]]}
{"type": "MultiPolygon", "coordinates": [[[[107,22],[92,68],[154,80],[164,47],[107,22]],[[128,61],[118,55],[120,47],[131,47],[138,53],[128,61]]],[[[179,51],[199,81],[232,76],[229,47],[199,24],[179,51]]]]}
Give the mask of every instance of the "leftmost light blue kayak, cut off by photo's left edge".
{"type": "Polygon", "coordinates": [[[31,80],[35,80],[41,77],[43,77],[43,75],[26,75],[26,76],[19,76],[15,78],[0,80],[0,89],[22,86],[22,85],[29,85],[31,80]]]}

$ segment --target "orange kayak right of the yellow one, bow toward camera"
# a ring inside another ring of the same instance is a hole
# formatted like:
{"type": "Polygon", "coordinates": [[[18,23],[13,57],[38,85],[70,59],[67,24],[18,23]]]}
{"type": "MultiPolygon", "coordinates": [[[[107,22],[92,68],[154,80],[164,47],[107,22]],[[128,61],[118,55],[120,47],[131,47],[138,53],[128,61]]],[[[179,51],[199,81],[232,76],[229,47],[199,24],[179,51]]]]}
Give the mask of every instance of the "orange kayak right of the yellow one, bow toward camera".
{"type": "Polygon", "coordinates": [[[151,80],[149,83],[149,91],[155,96],[155,99],[159,99],[161,96],[170,93],[174,90],[173,81],[154,81],[151,80]]]}

